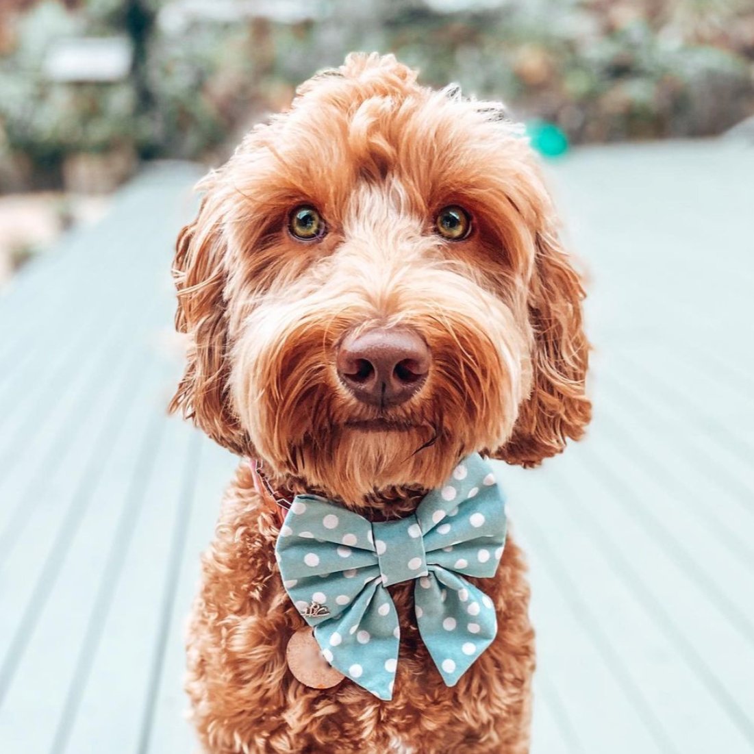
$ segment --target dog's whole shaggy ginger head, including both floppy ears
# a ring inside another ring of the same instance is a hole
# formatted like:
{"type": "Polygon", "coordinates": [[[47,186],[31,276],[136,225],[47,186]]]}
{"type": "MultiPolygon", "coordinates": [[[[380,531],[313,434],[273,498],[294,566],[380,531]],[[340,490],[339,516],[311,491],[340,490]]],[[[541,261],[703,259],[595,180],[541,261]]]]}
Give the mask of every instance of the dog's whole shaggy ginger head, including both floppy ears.
{"type": "Polygon", "coordinates": [[[277,480],[357,503],[581,436],[577,274],[516,128],[392,57],[308,81],[204,179],[173,399],[277,480]]]}

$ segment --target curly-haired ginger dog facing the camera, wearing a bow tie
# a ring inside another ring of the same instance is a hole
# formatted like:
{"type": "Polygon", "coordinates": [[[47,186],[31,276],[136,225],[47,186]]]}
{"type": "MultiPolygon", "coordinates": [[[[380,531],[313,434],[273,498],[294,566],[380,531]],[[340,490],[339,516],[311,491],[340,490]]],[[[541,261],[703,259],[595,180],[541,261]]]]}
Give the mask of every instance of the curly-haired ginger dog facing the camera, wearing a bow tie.
{"type": "Polygon", "coordinates": [[[584,289],[537,159],[503,106],[416,79],[377,54],[315,75],[202,179],[179,234],[190,346],[171,409],[242,458],[188,633],[211,754],[529,750],[534,634],[510,537],[494,578],[464,582],[497,630],[455,685],[421,638],[413,581],[384,577],[391,698],[355,673],[314,688],[292,670],[291,637],[329,608],[282,583],[280,506],[308,495],[367,528],[403,520],[461,459],[533,467],[590,419],[584,289]]]}

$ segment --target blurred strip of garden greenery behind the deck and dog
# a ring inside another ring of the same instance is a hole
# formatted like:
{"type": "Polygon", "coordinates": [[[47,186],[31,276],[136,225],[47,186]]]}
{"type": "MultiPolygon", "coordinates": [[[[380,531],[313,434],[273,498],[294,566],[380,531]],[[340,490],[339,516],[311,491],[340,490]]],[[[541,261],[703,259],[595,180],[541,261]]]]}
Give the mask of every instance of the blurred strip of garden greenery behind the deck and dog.
{"type": "Polygon", "coordinates": [[[0,192],[222,161],[356,49],[503,98],[551,155],[754,112],[752,0],[0,0],[0,192]]]}

